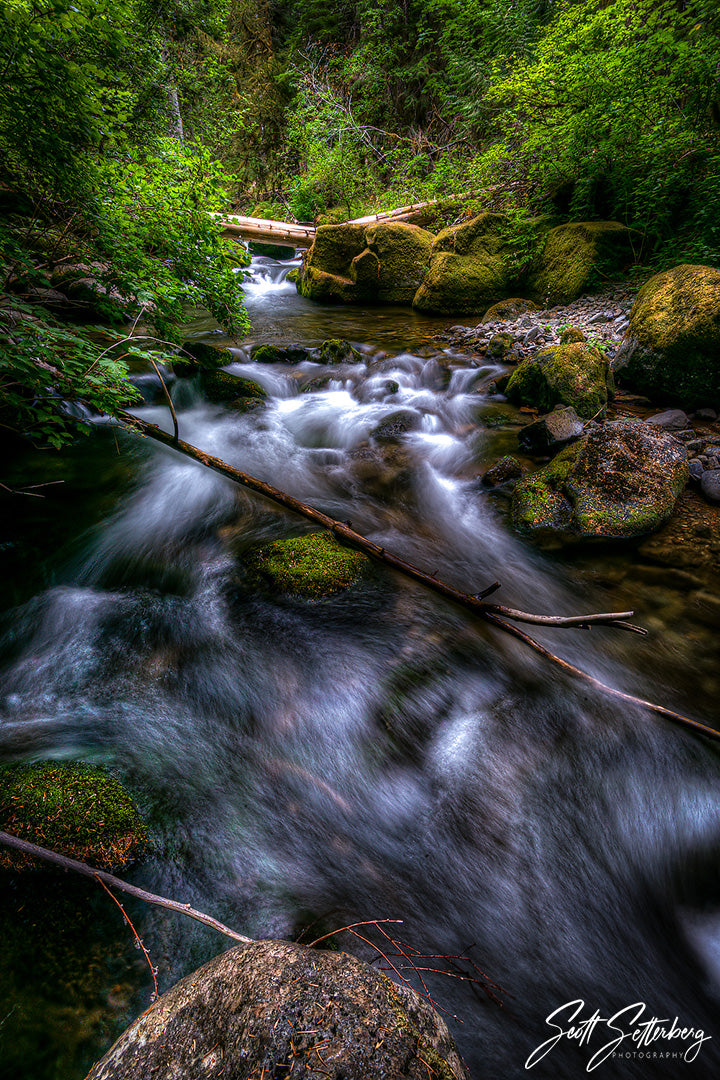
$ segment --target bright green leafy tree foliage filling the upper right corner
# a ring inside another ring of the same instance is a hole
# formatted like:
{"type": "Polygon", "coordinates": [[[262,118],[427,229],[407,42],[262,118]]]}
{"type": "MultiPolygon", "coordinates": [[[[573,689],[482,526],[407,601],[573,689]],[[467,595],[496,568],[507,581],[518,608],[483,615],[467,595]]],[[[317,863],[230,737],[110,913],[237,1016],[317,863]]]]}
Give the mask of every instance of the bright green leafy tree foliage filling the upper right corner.
{"type": "Polygon", "coordinates": [[[715,242],[714,19],[708,0],[568,4],[532,55],[495,63],[484,106],[502,138],[486,175],[513,162],[538,192],[570,183],[575,218],[615,216],[657,241],[694,217],[715,242]]]}

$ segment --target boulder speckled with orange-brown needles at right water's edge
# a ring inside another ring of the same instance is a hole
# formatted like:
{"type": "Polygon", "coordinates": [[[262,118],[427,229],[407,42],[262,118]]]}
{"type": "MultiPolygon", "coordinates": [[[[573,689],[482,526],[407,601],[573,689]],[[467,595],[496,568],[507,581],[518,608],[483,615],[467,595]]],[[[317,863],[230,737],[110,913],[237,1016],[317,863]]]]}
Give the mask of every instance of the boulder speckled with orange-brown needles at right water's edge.
{"type": "Polygon", "coordinates": [[[639,420],[615,420],[517,483],[513,524],[540,540],[633,539],[669,517],[687,482],[680,443],[639,420]]]}

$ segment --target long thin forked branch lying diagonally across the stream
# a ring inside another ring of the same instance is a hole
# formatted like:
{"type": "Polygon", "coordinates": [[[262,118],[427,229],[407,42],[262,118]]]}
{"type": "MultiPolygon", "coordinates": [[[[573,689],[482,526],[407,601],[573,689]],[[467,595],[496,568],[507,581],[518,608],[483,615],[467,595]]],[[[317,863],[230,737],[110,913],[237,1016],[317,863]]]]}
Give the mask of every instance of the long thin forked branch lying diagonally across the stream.
{"type": "Polygon", "coordinates": [[[551,650],[545,648],[545,646],[540,642],[530,637],[518,626],[513,625],[514,622],[526,622],[540,626],[552,626],[555,629],[575,627],[584,630],[589,630],[593,625],[601,625],[644,635],[647,631],[627,621],[635,612],[607,611],[579,616],[546,616],[533,615],[529,611],[520,611],[516,608],[504,607],[502,604],[489,604],[486,597],[494,593],[500,588],[499,582],[493,582],[490,586],[479,593],[476,593],[475,595],[464,593],[461,590],[447,584],[445,581],[441,581],[439,578],[436,578],[434,575],[425,573],[424,570],[421,570],[413,564],[406,562],[404,558],[393,554],[393,552],[388,551],[385,548],[380,546],[380,544],[373,543],[372,540],[368,540],[367,537],[356,532],[355,529],[352,528],[350,522],[336,521],[336,518],[330,517],[321,510],[316,510],[314,507],[308,505],[300,499],[296,499],[295,496],[289,495],[287,491],[282,491],[280,488],[273,487],[271,484],[267,484],[264,481],[258,480],[256,476],[252,476],[249,473],[242,472],[240,469],[234,469],[232,465],[228,464],[227,461],[222,461],[221,458],[213,457],[210,454],[206,454],[196,446],[192,446],[190,443],[185,443],[182,440],[167,434],[167,432],[163,431],[162,428],[157,427],[154,423],[148,423],[146,420],[132,416],[130,413],[119,411],[118,417],[123,422],[126,430],[153,438],[159,443],[163,443],[165,446],[169,446],[172,449],[191,458],[193,461],[198,461],[207,469],[212,469],[221,476],[227,476],[236,484],[250,488],[250,490],[257,491],[258,495],[264,496],[264,498],[270,499],[281,507],[300,514],[308,521],[314,522],[316,525],[321,525],[323,528],[329,529],[340,543],[345,544],[349,548],[354,548],[357,551],[362,551],[363,554],[368,555],[370,558],[376,559],[385,566],[392,567],[405,577],[411,578],[413,581],[418,581],[432,592],[437,593],[460,607],[472,611],[473,615],[490,623],[490,625],[495,626],[498,630],[501,630],[503,633],[510,634],[517,640],[522,642],[525,645],[533,649],[533,651],[559,666],[562,671],[566,671],[575,678],[580,678],[581,680],[587,683],[596,690],[624,701],[626,704],[648,710],[658,716],[664,716],[666,719],[680,725],[689,731],[705,735],[705,738],[711,739],[716,742],[720,742],[720,731],[716,731],[714,728],[707,727],[705,724],[699,724],[697,720],[693,720],[689,716],[683,716],[681,713],[677,713],[671,708],[666,708],[664,705],[657,705],[654,702],[646,701],[643,698],[637,698],[634,694],[625,693],[623,690],[617,690],[612,686],[608,686],[606,683],[601,683],[599,679],[596,679],[593,675],[589,675],[582,669],[576,667],[574,664],[571,664],[561,657],[551,652],[551,650]],[[507,620],[512,620],[512,622],[508,622],[507,620]]]}

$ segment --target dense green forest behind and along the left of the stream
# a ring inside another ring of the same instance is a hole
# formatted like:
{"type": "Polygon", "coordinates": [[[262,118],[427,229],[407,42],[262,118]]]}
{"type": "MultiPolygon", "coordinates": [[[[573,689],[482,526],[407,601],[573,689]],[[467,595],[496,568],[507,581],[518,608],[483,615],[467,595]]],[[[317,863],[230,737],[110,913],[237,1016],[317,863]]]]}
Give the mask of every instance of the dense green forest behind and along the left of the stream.
{"type": "Polygon", "coordinates": [[[189,305],[242,333],[230,205],[467,192],[720,266],[715,0],[0,0],[0,420],[38,441],[70,437],[53,393],[131,400],[113,320],[149,320],[147,348],[189,305]],[[77,265],[104,330],[52,315],[77,265]]]}

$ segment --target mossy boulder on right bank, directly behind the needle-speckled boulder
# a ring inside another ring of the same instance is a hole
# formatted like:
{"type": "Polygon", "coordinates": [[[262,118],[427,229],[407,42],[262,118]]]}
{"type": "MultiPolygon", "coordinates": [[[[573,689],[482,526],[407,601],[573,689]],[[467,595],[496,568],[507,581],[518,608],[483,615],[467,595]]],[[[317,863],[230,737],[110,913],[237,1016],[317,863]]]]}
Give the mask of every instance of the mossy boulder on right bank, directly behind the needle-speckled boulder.
{"type": "Polygon", "coordinates": [[[508,401],[548,413],[556,405],[572,405],[578,416],[602,414],[613,393],[608,357],[593,346],[578,342],[542,349],[513,372],[505,394],[508,401]]]}

